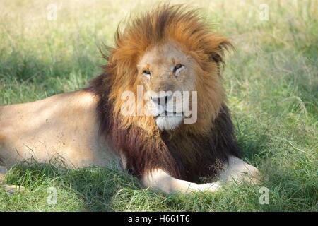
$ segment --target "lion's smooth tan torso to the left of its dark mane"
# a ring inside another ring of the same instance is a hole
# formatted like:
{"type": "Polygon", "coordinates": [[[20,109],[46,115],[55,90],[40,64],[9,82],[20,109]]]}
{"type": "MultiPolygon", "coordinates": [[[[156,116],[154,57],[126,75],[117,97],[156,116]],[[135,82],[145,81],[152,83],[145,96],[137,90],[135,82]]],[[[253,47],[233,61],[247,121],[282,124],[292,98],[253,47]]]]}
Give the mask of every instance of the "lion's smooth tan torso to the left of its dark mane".
{"type": "MultiPolygon", "coordinates": [[[[111,143],[100,136],[98,97],[86,91],[0,107],[0,160],[5,167],[34,157],[62,157],[69,167],[119,162],[111,143]]],[[[120,164],[117,164],[120,166],[120,164]]]]}

